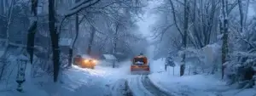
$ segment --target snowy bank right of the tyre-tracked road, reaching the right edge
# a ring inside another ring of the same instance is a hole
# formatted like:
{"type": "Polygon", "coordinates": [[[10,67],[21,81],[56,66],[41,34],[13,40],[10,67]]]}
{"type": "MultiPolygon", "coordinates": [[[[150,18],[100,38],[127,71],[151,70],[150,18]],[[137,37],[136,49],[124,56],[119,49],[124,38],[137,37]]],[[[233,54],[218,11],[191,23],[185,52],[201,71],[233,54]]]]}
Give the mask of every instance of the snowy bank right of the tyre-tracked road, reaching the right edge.
{"type": "Polygon", "coordinates": [[[164,70],[164,59],[152,64],[154,73],[149,75],[151,82],[161,90],[176,96],[254,96],[255,89],[234,89],[225,85],[218,75],[179,76],[179,66],[164,70]]]}

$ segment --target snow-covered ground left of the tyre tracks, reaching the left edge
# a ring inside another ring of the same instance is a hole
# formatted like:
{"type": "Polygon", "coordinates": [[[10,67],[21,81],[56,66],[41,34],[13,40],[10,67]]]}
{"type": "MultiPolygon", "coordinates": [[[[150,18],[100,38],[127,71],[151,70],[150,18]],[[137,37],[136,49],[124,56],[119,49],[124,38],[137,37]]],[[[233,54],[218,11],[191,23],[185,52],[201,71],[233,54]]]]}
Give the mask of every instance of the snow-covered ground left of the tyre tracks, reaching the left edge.
{"type": "MultiPolygon", "coordinates": [[[[0,96],[119,96],[119,86],[123,86],[129,72],[130,62],[122,62],[119,68],[97,65],[95,70],[83,69],[73,65],[71,69],[62,71],[61,82],[54,83],[52,78],[41,76],[30,77],[31,65],[27,66],[24,93],[15,89],[15,74],[8,86],[0,84],[0,96]],[[124,82],[122,81],[124,80],[124,82]],[[119,83],[117,83],[119,82],[119,83]]],[[[14,70],[14,73],[16,71],[14,70]]]]}

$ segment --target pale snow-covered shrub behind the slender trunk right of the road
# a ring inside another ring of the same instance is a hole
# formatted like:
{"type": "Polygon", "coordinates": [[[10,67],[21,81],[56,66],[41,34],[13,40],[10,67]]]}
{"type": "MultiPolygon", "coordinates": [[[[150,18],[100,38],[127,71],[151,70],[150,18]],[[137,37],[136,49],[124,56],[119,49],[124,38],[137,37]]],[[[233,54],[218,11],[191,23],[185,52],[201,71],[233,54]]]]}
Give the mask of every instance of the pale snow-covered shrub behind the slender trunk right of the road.
{"type": "MultiPolygon", "coordinates": [[[[221,66],[221,47],[218,43],[209,44],[204,48],[186,48],[178,52],[178,61],[186,54],[186,65],[191,65],[193,73],[211,73],[221,66]]],[[[188,69],[189,70],[189,69],[188,69]]]]}

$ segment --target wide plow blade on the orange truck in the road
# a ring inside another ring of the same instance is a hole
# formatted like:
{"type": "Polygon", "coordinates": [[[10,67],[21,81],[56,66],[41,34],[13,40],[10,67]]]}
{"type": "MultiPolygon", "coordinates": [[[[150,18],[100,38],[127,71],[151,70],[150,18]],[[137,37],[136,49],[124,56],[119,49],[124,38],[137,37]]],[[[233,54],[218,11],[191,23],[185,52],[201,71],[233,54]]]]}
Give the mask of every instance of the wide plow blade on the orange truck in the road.
{"type": "Polygon", "coordinates": [[[131,75],[148,75],[150,69],[148,65],[131,65],[131,75]]]}

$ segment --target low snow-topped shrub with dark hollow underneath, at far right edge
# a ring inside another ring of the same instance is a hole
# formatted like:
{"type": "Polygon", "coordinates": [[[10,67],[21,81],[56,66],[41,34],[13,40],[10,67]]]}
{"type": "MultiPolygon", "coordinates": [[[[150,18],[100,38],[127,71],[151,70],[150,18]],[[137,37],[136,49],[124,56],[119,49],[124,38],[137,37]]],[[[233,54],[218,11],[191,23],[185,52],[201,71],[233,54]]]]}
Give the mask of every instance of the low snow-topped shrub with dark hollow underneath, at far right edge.
{"type": "Polygon", "coordinates": [[[224,64],[224,76],[228,84],[237,84],[237,88],[251,88],[253,86],[253,66],[255,54],[235,51],[230,54],[230,60],[224,64]]]}

